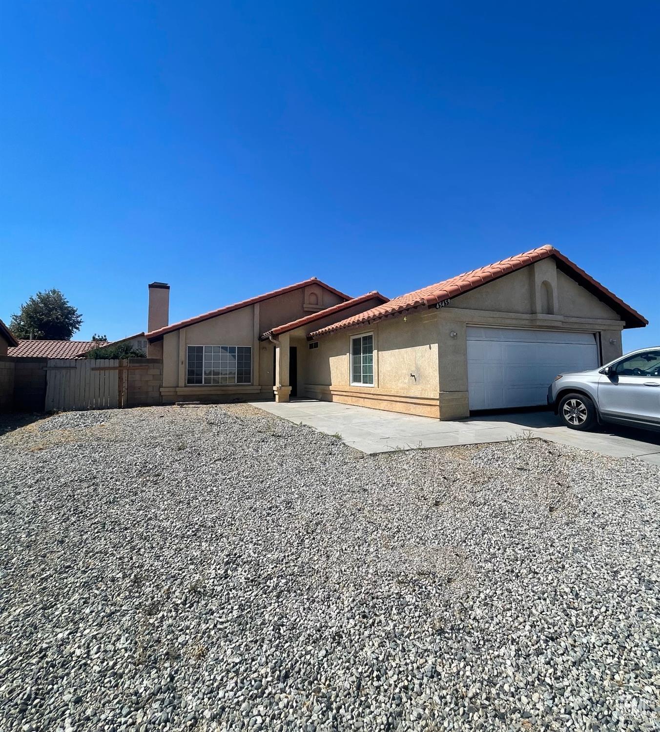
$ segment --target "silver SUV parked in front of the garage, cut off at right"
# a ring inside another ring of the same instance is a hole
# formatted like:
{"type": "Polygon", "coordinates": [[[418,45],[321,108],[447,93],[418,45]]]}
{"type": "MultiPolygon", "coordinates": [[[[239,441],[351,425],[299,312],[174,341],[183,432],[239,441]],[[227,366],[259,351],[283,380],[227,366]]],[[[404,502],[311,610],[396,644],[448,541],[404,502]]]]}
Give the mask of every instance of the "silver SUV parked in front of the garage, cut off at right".
{"type": "Polygon", "coordinates": [[[571,430],[598,422],[660,430],[660,346],[632,351],[599,369],[556,376],[548,404],[571,430]]]}

